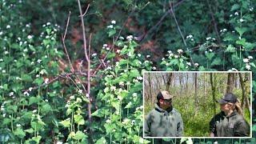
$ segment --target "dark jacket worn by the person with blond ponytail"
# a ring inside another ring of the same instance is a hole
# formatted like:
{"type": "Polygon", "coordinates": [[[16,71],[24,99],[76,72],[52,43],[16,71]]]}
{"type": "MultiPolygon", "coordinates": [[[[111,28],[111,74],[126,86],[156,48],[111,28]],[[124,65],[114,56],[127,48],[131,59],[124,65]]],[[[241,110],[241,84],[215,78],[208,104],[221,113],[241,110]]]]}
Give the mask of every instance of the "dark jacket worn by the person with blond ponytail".
{"type": "Polygon", "coordinates": [[[226,116],[224,112],[218,113],[210,121],[210,132],[214,137],[249,137],[250,126],[237,110],[226,116]]]}

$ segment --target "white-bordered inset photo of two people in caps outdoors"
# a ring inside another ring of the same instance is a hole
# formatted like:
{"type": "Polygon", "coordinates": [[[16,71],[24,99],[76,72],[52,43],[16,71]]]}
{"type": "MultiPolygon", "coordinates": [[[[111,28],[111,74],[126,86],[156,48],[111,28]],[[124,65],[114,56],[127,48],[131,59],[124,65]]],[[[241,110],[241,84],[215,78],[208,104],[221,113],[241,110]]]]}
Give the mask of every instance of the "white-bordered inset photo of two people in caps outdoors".
{"type": "Polygon", "coordinates": [[[144,138],[252,138],[250,71],[143,73],[144,138]]]}

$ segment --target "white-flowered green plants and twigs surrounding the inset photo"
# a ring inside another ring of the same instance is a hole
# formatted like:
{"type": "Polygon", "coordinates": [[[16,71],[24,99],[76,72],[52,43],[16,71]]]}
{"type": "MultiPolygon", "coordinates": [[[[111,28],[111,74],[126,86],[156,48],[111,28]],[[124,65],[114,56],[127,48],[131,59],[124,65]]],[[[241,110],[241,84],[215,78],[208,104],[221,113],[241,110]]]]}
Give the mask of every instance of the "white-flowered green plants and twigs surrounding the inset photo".
{"type": "Polygon", "coordinates": [[[255,3],[79,2],[0,0],[0,142],[152,142],[145,70],[250,70],[254,96],[255,3]]]}

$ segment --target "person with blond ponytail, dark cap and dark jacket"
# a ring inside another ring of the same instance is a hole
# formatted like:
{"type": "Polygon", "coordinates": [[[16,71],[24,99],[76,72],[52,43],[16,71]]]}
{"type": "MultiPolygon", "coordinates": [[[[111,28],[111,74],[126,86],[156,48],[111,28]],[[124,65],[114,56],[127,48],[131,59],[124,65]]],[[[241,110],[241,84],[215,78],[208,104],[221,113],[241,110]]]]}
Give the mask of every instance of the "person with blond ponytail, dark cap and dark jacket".
{"type": "Polygon", "coordinates": [[[242,109],[238,98],[227,93],[218,100],[221,112],[210,121],[211,137],[249,137],[250,125],[241,115],[242,109]]]}

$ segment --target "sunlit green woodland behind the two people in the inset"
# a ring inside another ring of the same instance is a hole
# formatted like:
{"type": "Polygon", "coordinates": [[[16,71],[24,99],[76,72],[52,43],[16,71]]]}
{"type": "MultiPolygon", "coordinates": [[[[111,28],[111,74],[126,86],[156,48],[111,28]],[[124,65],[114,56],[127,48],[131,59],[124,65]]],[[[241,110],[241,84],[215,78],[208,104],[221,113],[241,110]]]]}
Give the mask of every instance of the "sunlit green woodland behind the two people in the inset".
{"type": "Polygon", "coordinates": [[[209,122],[220,112],[216,101],[226,93],[237,95],[242,114],[251,123],[250,87],[250,73],[144,72],[144,116],[154,109],[158,92],[168,90],[182,114],[184,136],[210,137],[209,122]]]}

